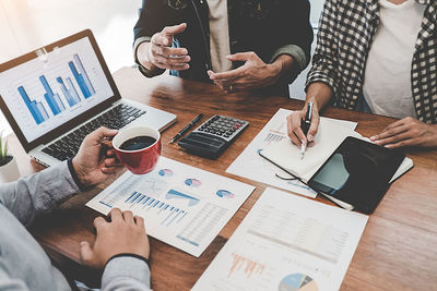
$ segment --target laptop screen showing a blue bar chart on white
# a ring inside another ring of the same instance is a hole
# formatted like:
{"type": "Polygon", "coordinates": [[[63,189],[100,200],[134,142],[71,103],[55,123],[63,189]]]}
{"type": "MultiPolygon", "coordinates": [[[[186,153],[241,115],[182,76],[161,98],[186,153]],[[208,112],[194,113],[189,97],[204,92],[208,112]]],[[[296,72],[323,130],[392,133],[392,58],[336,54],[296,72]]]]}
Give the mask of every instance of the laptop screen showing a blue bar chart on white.
{"type": "Polygon", "coordinates": [[[0,96],[27,143],[115,95],[88,37],[39,51],[0,73],[0,96]]]}

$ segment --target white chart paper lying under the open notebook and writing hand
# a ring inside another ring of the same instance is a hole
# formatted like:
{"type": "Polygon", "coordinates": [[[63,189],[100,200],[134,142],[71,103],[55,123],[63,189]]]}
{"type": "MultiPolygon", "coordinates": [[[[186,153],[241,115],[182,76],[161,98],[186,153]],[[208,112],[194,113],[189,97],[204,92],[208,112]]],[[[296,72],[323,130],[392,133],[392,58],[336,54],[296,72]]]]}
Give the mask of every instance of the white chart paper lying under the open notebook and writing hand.
{"type": "MultiPolygon", "coordinates": [[[[307,185],[296,181],[285,171],[259,155],[267,146],[277,143],[286,135],[286,117],[292,110],[279,109],[276,113],[264,125],[253,141],[245,148],[236,160],[226,169],[226,172],[260,181],[265,184],[277,186],[287,191],[299,193],[309,197],[316,197],[317,193],[307,185]]],[[[341,126],[354,130],[356,122],[335,120],[341,126]]]]}

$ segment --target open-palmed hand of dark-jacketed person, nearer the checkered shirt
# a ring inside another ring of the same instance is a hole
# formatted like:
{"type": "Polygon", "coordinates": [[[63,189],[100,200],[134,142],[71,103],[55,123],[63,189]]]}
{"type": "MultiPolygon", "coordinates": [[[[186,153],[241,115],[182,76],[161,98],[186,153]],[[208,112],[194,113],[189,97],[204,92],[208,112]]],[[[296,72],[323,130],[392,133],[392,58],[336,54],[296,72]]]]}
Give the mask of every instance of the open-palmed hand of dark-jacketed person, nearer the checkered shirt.
{"type": "Polygon", "coordinates": [[[267,64],[253,51],[239,52],[226,58],[229,61],[246,62],[228,72],[208,71],[210,78],[226,93],[267,87],[274,84],[282,72],[280,63],[267,64]]]}

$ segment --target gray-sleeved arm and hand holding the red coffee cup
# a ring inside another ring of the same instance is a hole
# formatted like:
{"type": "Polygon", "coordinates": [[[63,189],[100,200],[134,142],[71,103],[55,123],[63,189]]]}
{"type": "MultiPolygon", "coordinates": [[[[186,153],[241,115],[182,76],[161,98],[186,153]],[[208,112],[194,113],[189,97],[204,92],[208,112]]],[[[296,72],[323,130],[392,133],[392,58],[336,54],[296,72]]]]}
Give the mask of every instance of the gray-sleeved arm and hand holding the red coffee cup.
{"type": "Polygon", "coordinates": [[[23,225],[28,226],[36,216],[58,207],[72,195],[105,181],[120,165],[113,150],[101,157],[101,141],[117,131],[104,128],[87,135],[72,160],[0,186],[0,203],[23,225]]]}

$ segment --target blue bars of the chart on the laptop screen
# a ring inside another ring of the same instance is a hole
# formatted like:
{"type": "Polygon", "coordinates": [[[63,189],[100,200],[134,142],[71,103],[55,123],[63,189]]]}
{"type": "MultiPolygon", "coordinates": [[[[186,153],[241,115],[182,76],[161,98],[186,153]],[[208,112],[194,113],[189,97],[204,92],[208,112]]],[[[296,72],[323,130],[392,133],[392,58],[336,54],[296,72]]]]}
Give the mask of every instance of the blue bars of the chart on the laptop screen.
{"type": "Polygon", "coordinates": [[[36,94],[31,94],[33,100],[28,96],[23,85],[17,87],[17,90],[36,124],[42,124],[46,120],[50,119],[48,113],[49,111],[51,111],[51,114],[56,117],[66,111],[68,106],[70,108],[74,107],[82,100],[87,99],[96,94],[96,90],[79,54],[72,56],[72,61],[63,62],[63,64],[60,66],[60,70],[63,72],[62,76],[58,75],[54,78],[49,78],[47,77],[47,74],[39,75],[38,86],[43,87],[44,93],[38,94],[39,96],[36,96],[36,94]],[[54,87],[55,85],[57,87],[54,87]],[[56,92],[56,89],[59,92],[56,92]],[[82,94],[82,96],[79,92],[82,94]]]}

